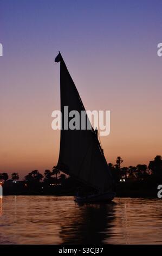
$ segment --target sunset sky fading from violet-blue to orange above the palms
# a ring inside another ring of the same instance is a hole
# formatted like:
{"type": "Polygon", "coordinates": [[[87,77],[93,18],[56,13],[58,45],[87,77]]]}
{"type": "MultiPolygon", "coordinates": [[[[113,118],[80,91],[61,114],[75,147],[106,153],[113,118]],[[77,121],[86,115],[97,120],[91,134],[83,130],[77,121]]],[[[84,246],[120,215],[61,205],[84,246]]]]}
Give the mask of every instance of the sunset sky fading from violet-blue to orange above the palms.
{"type": "Polygon", "coordinates": [[[162,155],[161,0],[0,0],[0,173],[51,169],[60,132],[58,51],[86,109],[111,111],[108,162],[162,155]]]}

